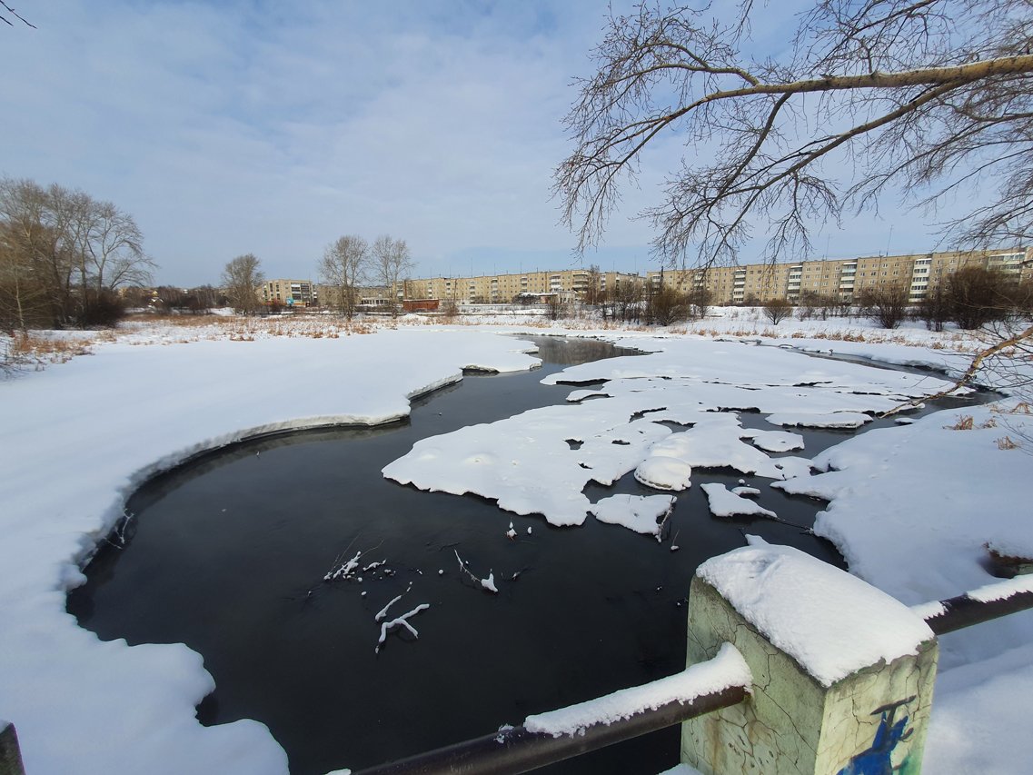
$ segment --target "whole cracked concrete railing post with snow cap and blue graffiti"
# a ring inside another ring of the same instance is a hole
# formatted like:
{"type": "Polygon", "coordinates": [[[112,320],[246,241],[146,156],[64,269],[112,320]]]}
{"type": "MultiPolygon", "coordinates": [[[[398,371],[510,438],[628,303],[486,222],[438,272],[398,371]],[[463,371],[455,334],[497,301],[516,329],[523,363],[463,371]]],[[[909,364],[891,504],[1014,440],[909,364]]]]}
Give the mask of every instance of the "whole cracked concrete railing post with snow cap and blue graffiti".
{"type": "Polygon", "coordinates": [[[692,581],[688,662],[725,642],[746,659],[752,694],[686,721],[683,762],[706,775],[919,771],[937,646],[903,603],[799,550],[751,538],[692,581]]]}

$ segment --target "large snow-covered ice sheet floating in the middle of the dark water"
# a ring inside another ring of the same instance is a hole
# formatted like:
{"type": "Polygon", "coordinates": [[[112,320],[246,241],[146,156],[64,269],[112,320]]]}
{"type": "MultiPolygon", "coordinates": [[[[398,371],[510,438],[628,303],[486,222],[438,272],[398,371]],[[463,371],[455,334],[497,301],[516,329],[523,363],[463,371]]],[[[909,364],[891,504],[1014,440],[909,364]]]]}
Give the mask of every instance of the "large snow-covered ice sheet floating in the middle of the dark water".
{"type": "Polygon", "coordinates": [[[662,346],[549,375],[542,381],[551,384],[605,383],[572,391],[563,406],[418,441],[383,474],[422,490],[495,499],[553,525],[581,525],[592,507],[586,486],[609,486],[632,471],[668,492],[688,488],[700,468],[771,479],[810,475],[805,458],[769,455],[801,448],[800,434],[743,428],[740,411],[766,415],[773,426],[856,428],[871,413],[947,384],[741,342],[662,346]],[[684,430],[674,432],[678,426],[684,430]]]}

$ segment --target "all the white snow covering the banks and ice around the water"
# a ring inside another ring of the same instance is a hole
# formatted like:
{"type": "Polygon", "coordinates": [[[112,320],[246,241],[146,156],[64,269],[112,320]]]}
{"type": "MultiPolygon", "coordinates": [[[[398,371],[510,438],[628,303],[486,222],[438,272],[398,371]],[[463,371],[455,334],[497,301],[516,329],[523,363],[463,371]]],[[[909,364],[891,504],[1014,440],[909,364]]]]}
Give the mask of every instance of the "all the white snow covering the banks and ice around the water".
{"type": "MultiPolygon", "coordinates": [[[[1022,439],[1033,422],[1010,411],[1014,400],[877,429],[814,460],[793,432],[855,427],[945,384],[802,351],[957,372],[977,344],[957,333],[773,327],[744,310],[666,331],[414,316],[353,332],[320,318],[190,322],[54,334],[0,381],[0,718],[17,725],[30,775],[286,772],[262,724],[196,721],[212,688],[197,654],[101,643],[65,613],[65,592],[153,473],[261,433],[402,417],[409,398],[464,368],[537,363],[522,352],[528,344],[498,334],[598,336],[649,354],[554,375],[574,383],[567,405],[427,439],[385,475],[574,530],[599,519],[650,532],[679,492],[706,484],[700,471],[731,466],[829,500],[817,532],[852,572],[907,605],[993,581],[988,546],[1033,556],[1033,451],[1022,439]],[[760,412],[770,429],[743,428],[739,410],[760,412]],[[630,471],[657,495],[594,504],[583,495],[587,483],[630,471]]],[[[716,516],[758,513],[749,488],[707,494],[716,516]]],[[[941,652],[926,771],[1026,772],[1033,614],[946,636],[941,652]]]]}

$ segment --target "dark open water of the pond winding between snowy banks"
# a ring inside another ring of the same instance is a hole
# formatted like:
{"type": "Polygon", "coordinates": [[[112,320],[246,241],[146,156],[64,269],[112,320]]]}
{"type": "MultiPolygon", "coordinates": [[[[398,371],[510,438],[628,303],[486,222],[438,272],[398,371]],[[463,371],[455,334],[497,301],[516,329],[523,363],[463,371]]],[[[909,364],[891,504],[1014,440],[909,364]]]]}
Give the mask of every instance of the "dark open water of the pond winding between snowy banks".
{"type": "MultiPolygon", "coordinates": [[[[711,517],[698,484],[732,485],[738,473],[698,471],[663,544],[591,519],[553,528],[381,476],[419,438],[562,402],[570,389],[540,384],[546,373],[627,354],[593,341],[539,344],[542,369],[468,377],[416,401],[408,423],[246,442],[153,479],[128,504],[136,518],[127,547],[98,553],[68,610],[103,639],[186,643],[217,683],[201,721],[263,721],[291,772],[310,775],[477,737],[678,672],[692,572],[743,546],[744,532],[842,565],[802,529],[822,504],[764,479],[759,501],[784,523],[711,517]],[[510,521],[516,539],[505,535],[510,521]],[[362,582],[323,581],[357,551],[363,565],[386,564],[359,572],[362,582]],[[494,571],[498,595],[459,571],[457,551],[478,576],[494,571]],[[430,603],[410,620],[419,638],[396,630],[377,654],[374,615],[403,593],[388,618],[430,603]]],[[[807,435],[810,456],[844,434],[807,435]]],[[[628,475],[588,494],[615,492],[655,491],[628,475]]],[[[678,763],[678,738],[665,730],[542,772],[657,773],[678,763]]]]}

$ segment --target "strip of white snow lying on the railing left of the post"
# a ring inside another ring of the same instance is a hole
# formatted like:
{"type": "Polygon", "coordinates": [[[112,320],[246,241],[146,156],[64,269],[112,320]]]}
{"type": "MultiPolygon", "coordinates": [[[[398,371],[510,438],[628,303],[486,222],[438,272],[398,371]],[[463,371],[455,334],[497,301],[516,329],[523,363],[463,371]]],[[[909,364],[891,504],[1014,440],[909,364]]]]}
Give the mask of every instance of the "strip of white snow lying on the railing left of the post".
{"type": "Polygon", "coordinates": [[[583,735],[589,726],[612,724],[667,703],[689,703],[731,686],[747,689],[753,682],[750,669],[731,644],[724,644],[713,659],[692,664],[681,673],[651,683],[615,691],[596,700],[539,713],[524,719],[528,732],[558,738],[583,735]]]}

